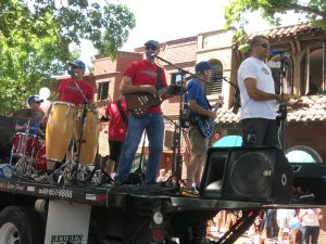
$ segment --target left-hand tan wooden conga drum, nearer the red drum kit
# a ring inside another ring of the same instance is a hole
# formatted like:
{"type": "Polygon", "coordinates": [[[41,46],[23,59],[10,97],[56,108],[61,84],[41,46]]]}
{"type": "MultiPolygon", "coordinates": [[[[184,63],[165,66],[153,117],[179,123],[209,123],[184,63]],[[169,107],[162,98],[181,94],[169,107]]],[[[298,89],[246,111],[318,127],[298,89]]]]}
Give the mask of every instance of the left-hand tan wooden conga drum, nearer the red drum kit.
{"type": "Polygon", "coordinates": [[[62,162],[73,139],[77,106],[67,102],[54,102],[46,131],[48,160],[62,162]]]}

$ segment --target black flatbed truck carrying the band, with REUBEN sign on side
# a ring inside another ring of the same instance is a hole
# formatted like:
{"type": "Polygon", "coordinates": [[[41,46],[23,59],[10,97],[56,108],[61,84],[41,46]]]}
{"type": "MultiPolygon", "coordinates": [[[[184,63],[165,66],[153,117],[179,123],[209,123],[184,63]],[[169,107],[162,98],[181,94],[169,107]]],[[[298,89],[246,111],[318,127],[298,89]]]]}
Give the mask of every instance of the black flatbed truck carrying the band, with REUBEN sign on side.
{"type": "Polygon", "coordinates": [[[241,209],[246,218],[239,227],[244,229],[237,227],[226,239],[233,243],[266,207],[205,200],[158,184],[60,185],[21,179],[0,179],[0,197],[1,244],[208,243],[208,220],[222,209],[241,209]],[[86,216],[75,216],[74,209],[86,216]]]}

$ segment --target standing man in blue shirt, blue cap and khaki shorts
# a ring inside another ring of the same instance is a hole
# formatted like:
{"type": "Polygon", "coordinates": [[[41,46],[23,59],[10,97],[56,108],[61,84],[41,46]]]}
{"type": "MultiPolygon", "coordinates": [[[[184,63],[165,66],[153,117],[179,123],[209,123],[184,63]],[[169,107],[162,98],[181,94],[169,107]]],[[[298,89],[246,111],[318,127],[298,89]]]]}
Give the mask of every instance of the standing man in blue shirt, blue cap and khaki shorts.
{"type": "Polygon", "coordinates": [[[216,118],[216,113],[212,111],[204,89],[204,81],[210,81],[212,69],[213,67],[206,61],[196,64],[198,77],[188,82],[185,93],[185,102],[189,103],[190,107],[189,139],[192,159],[187,166],[187,188],[191,190],[199,188],[210,140],[201,133],[199,119],[216,118]]]}

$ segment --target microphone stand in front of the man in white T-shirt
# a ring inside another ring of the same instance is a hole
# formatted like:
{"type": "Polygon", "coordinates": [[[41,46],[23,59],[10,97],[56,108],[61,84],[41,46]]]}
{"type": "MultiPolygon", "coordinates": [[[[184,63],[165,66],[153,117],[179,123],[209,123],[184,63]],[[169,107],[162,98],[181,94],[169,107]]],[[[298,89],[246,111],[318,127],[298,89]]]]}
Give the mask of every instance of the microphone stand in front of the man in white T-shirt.
{"type": "Polygon", "coordinates": [[[276,120],[279,123],[280,133],[278,139],[280,141],[280,149],[285,152],[285,121],[287,119],[287,104],[284,103],[284,78],[286,75],[285,64],[287,63],[287,57],[284,53],[279,54],[280,68],[279,68],[279,82],[280,82],[280,103],[278,105],[277,113],[279,114],[276,117],[276,120]]]}

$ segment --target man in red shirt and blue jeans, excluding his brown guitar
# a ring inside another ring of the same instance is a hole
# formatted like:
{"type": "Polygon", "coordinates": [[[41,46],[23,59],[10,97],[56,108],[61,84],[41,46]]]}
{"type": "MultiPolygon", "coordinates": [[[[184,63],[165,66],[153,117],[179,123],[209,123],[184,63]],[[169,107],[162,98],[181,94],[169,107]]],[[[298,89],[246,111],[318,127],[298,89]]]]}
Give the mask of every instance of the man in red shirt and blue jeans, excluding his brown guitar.
{"type": "MultiPolygon", "coordinates": [[[[155,56],[159,54],[160,44],[158,41],[149,40],[145,43],[146,59],[142,61],[133,62],[124,73],[121,92],[123,94],[148,92],[156,93],[160,87],[166,87],[165,73],[161,68],[158,70],[155,56]],[[161,86],[156,84],[158,74],[161,73],[161,86]]],[[[167,99],[172,95],[163,94],[162,99],[167,99]]],[[[143,131],[147,132],[149,141],[149,158],[145,183],[154,183],[160,166],[160,158],[163,150],[163,133],[164,123],[162,110],[159,106],[149,110],[149,113],[143,117],[135,117],[129,114],[128,130],[126,140],[122,150],[115,183],[121,184],[128,179],[131,164],[138,149],[143,131]]]]}

